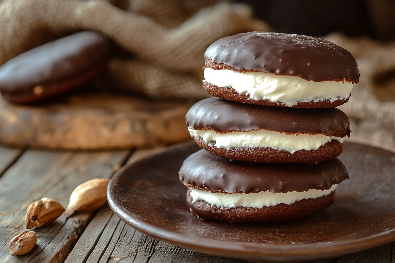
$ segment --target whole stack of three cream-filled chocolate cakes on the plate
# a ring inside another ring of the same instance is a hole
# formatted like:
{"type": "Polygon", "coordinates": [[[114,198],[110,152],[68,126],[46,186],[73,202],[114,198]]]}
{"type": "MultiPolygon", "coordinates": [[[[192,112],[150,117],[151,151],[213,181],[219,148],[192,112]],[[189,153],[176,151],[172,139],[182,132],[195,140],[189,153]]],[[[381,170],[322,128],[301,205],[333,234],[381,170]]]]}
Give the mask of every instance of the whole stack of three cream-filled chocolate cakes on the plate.
{"type": "Polygon", "coordinates": [[[348,179],[336,159],[350,123],[346,103],[359,71],[342,47],[304,35],[251,32],[205,52],[203,85],[186,125],[202,150],[180,180],[199,219],[265,222],[302,218],[333,203],[348,179]]]}

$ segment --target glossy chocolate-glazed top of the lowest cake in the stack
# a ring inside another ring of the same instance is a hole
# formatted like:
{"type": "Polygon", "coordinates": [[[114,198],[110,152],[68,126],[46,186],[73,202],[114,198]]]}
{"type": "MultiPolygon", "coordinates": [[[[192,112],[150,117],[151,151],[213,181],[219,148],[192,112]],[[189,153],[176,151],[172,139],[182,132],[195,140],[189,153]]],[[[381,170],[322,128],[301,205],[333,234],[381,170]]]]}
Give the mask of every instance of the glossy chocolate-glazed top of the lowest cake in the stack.
{"type": "Polygon", "coordinates": [[[328,190],[349,178],[339,159],[319,164],[252,164],[231,162],[203,149],[184,160],[179,176],[187,187],[229,194],[328,190]]]}

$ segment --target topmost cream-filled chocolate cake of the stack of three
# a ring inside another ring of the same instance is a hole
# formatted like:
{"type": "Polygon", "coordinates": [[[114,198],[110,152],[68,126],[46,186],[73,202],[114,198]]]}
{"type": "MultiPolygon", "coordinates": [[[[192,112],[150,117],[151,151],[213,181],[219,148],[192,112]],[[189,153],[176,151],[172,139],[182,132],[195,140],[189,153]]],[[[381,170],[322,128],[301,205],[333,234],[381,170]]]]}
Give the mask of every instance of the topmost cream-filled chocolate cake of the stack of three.
{"type": "Polygon", "coordinates": [[[250,32],[215,41],[205,52],[203,86],[229,101],[264,106],[331,108],[358,83],[350,52],[305,35],[250,32]]]}

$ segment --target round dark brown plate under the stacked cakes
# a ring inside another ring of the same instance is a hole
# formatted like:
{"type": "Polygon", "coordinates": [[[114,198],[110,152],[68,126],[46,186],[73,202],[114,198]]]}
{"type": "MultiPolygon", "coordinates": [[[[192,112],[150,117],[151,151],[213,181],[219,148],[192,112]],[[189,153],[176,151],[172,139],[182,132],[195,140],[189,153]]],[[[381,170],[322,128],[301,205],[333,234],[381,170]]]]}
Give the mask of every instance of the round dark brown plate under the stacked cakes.
{"type": "Polygon", "coordinates": [[[339,185],[331,207],[292,222],[230,224],[197,220],[186,205],[178,170],[198,149],[180,145],[117,172],[107,190],[114,212],[155,239],[256,261],[336,257],[395,241],[395,153],[346,143],[340,159],[350,180],[339,185]]]}

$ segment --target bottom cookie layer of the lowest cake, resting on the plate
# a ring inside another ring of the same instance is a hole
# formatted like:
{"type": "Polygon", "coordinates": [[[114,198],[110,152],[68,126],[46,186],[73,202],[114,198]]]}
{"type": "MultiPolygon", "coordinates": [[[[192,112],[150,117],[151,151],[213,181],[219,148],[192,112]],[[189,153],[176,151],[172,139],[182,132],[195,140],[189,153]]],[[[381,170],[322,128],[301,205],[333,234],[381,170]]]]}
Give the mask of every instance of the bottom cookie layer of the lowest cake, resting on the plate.
{"type": "Polygon", "coordinates": [[[280,203],[275,206],[256,207],[226,207],[221,208],[216,205],[199,200],[192,203],[190,189],[186,192],[186,202],[192,214],[200,220],[219,220],[234,222],[280,222],[293,220],[312,215],[324,210],[333,203],[335,192],[327,196],[309,198],[295,201],[291,204],[280,203]]]}

